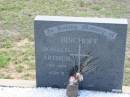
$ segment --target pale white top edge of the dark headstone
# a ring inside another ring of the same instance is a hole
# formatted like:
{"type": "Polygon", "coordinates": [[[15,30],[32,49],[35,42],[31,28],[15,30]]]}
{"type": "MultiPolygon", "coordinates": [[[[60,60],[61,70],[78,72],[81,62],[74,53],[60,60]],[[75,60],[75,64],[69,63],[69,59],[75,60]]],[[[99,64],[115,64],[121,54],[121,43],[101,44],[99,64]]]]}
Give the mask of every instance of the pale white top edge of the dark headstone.
{"type": "Polygon", "coordinates": [[[62,21],[62,22],[88,22],[88,23],[110,23],[128,24],[123,18],[98,18],[98,17],[71,17],[71,16],[41,16],[35,17],[35,21],[62,21]]]}

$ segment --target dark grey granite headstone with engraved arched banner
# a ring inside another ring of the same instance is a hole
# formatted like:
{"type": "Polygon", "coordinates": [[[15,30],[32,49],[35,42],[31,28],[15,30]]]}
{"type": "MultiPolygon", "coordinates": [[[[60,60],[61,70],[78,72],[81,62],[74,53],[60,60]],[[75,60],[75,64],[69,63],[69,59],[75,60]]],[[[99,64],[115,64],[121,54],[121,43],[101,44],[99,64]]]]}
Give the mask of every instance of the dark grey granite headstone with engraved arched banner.
{"type": "Polygon", "coordinates": [[[98,58],[80,89],[122,90],[126,19],[37,16],[34,30],[38,87],[66,87],[70,69],[78,64],[80,40],[80,57],[91,52],[98,58]]]}

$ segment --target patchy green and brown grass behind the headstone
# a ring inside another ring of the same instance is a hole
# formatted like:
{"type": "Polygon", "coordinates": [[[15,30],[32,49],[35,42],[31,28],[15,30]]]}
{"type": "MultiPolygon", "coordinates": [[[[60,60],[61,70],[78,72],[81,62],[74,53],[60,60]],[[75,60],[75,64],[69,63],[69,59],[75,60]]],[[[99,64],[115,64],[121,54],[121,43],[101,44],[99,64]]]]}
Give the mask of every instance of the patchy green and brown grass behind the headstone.
{"type": "MultiPolygon", "coordinates": [[[[0,0],[0,78],[35,79],[36,15],[126,17],[130,21],[129,4],[129,0],[0,0]]],[[[130,85],[130,33],[124,85],[130,85]]]]}

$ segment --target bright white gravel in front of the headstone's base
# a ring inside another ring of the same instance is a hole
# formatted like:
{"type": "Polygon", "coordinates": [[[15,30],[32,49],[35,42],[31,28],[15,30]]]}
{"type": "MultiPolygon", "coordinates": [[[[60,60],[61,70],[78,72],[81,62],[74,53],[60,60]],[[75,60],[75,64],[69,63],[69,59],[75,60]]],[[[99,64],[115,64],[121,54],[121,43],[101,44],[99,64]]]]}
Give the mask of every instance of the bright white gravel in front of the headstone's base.
{"type": "MultiPolygon", "coordinates": [[[[65,89],[0,87],[1,97],[67,97],[65,89]],[[17,91],[17,92],[16,92],[17,91]]],[[[78,97],[130,97],[129,93],[79,91],[78,97]]]]}

